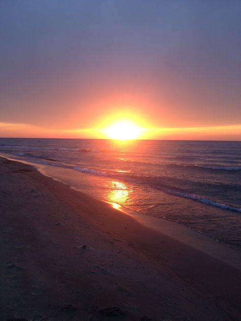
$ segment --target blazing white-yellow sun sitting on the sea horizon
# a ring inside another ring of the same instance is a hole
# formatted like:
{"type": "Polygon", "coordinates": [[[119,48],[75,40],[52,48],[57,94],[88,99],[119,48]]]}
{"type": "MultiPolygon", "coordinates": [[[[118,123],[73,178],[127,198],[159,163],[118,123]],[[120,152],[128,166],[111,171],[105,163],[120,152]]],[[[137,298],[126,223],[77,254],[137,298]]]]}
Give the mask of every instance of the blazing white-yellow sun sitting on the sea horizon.
{"type": "Polygon", "coordinates": [[[143,130],[130,121],[118,121],[109,126],[105,132],[110,139],[137,139],[143,130]]]}

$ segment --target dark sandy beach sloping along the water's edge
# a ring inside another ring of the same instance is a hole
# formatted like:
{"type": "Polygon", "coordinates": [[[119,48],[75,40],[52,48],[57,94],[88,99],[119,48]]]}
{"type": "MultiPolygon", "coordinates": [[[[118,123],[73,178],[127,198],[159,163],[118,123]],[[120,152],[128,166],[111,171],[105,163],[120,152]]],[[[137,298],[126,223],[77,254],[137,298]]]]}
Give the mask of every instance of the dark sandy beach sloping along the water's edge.
{"type": "Polygon", "coordinates": [[[0,164],[1,320],[241,319],[239,251],[0,164]]]}

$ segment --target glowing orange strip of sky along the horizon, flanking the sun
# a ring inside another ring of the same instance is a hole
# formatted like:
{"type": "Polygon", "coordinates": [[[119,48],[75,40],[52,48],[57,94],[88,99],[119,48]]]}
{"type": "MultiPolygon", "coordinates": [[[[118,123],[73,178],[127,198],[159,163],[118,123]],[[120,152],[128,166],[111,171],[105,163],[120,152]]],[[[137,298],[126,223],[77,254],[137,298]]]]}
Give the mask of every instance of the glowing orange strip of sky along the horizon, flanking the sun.
{"type": "MultiPolygon", "coordinates": [[[[142,127],[140,139],[241,140],[241,124],[231,126],[158,128],[142,127]]],[[[51,130],[17,123],[0,123],[0,137],[36,138],[109,138],[99,129],[51,130]]]]}

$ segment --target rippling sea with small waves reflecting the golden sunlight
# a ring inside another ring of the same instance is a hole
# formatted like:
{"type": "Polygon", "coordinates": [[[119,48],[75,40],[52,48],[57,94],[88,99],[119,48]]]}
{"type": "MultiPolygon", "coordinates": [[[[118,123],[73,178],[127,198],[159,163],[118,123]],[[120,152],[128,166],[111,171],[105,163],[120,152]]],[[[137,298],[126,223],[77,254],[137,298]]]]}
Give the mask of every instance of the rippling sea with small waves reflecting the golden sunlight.
{"type": "Polygon", "coordinates": [[[0,154],[241,250],[241,142],[1,138],[0,154]]]}

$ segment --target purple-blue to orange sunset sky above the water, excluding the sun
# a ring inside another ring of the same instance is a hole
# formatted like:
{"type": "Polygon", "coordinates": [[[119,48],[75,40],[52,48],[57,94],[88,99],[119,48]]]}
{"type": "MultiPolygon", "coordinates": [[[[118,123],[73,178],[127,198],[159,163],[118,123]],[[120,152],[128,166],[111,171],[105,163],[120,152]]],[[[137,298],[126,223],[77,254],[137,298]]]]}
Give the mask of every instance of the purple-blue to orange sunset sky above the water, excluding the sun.
{"type": "Polygon", "coordinates": [[[0,0],[0,136],[241,140],[239,0],[0,0]]]}

